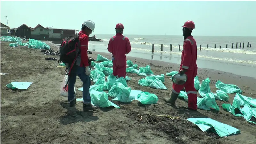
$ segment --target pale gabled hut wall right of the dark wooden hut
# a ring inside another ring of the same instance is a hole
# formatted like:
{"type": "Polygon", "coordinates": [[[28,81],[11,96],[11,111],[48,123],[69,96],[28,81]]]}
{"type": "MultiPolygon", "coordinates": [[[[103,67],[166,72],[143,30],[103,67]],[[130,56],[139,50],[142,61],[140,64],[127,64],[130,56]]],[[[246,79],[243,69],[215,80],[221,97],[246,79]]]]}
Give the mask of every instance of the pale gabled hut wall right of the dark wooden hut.
{"type": "Polygon", "coordinates": [[[44,40],[49,38],[49,30],[45,29],[41,26],[37,27],[34,30],[31,30],[31,38],[34,39],[39,39],[39,40],[44,40]]]}

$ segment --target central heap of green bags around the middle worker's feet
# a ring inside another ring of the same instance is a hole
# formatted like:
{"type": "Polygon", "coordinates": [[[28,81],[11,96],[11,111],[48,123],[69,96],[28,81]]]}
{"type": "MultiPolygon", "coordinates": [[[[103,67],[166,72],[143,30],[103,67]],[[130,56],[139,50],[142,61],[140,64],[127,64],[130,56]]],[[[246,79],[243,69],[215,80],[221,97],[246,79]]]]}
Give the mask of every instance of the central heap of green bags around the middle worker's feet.
{"type": "MultiPolygon", "coordinates": [[[[90,79],[94,82],[94,85],[89,89],[93,105],[120,108],[111,101],[130,103],[133,100],[138,100],[142,104],[157,103],[158,97],[155,94],[139,90],[131,90],[126,82],[131,80],[128,76],[125,78],[114,76],[113,68],[110,68],[113,67],[112,61],[100,54],[98,54],[96,61],[100,63],[92,62],[94,70],[92,70],[90,74],[90,79]],[[107,76],[107,79],[105,76],[107,76]],[[108,100],[108,97],[113,99],[110,101],[108,100]]],[[[130,65],[131,63],[130,60],[127,61],[127,65],[130,65]]],[[[83,88],[79,88],[78,90],[83,91],[83,88]]]]}

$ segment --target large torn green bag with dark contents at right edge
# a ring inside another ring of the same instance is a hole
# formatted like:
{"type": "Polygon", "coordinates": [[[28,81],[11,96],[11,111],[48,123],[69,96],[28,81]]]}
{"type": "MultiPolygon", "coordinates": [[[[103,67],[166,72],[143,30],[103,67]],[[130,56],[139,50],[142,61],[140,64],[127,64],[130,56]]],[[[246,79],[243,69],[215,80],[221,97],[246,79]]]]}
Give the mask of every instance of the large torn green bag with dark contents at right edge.
{"type": "Polygon", "coordinates": [[[256,118],[256,99],[236,93],[232,105],[224,103],[222,108],[234,116],[244,117],[246,121],[256,124],[256,122],[251,121],[252,116],[256,118]],[[237,113],[235,109],[238,109],[240,113],[237,113]]]}

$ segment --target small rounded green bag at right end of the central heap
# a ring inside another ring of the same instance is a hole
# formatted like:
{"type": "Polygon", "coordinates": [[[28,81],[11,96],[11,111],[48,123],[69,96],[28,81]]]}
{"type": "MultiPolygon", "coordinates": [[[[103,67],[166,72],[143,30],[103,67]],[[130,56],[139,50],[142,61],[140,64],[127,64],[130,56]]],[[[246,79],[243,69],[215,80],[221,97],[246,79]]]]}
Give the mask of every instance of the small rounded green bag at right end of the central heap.
{"type": "Polygon", "coordinates": [[[140,103],[147,105],[147,104],[156,104],[158,101],[158,97],[153,94],[153,93],[149,93],[149,92],[141,92],[138,95],[138,101],[140,101],[140,103]]]}

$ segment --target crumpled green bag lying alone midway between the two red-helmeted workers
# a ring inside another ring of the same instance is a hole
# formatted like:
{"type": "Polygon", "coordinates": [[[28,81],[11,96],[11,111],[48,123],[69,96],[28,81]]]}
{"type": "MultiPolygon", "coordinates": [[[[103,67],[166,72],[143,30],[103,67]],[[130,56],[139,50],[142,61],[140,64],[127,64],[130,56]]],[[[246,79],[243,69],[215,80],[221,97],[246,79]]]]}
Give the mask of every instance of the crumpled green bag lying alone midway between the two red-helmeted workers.
{"type": "Polygon", "coordinates": [[[166,86],[162,83],[162,81],[158,78],[161,78],[164,81],[164,74],[161,76],[147,76],[139,80],[138,84],[141,86],[148,86],[155,89],[163,89],[167,90],[166,86]]]}

